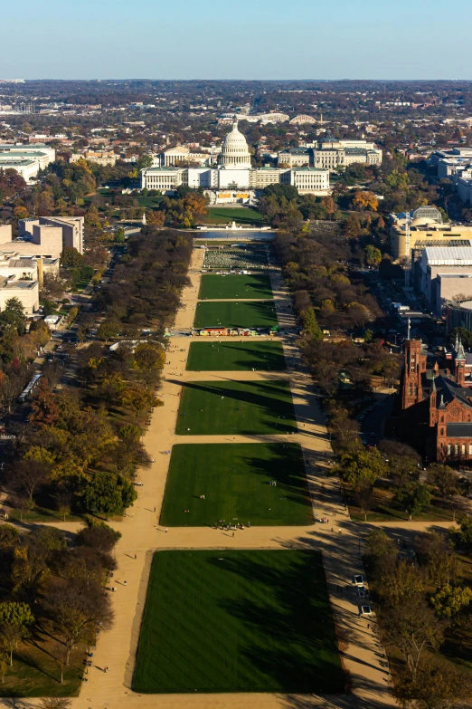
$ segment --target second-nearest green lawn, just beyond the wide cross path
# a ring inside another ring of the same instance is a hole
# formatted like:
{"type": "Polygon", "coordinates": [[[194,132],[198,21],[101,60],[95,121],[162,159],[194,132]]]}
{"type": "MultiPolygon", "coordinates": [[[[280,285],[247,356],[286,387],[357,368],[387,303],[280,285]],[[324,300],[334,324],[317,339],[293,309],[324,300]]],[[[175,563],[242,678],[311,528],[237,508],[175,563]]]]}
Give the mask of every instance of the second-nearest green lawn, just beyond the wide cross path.
{"type": "Polygon", "coordinates": [[[160,523],[197,527],[219,520],[246,525],[312,523],[300,446],[174,446],[160,523]],[[277,486],[269,485],[272,480],[277,486]]]}

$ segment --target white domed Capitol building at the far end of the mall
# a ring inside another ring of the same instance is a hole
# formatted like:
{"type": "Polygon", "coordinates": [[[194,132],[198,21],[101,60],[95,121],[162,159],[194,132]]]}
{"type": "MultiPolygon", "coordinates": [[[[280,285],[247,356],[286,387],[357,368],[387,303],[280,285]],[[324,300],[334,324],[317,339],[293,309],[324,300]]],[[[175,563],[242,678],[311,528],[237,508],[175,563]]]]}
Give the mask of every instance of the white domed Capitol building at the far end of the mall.
{"type": "Polygon", "coordinates": [[[232,123],[231,132],[222,141],[222,150],[216,164],[212,164],[210,158],[204,160],[208,164],[201,167],[179,167],[178,163],[183,161],[193,162],[192,153],[188,149],[180,147],[167,151],[166,162],[174,164],[160,164],[141,170],[141,189],[146,187],[160,190],[163,194],[172,194],[181,185],[195,189],[202,187],[212,204],[248,203],[255,197],[256,190],[277,183],[293,185],[300,194],[324,196],[330,193],[327,168],[251,167],[248,143],[238,129],[236,119],[232,123]]]}

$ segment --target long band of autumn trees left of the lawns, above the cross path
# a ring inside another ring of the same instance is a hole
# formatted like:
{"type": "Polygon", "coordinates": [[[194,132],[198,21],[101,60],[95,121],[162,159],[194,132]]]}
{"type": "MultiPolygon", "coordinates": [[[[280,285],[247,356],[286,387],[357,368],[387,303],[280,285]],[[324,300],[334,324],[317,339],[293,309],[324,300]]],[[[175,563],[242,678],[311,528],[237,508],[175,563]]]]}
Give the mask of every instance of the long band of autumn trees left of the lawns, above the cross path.
{"type": "MultiPolygon", "coordinates": [[[[55,392],[61,367],[52,361],[33,398],[29,426],[15,442],[6,482],[16,506],[34,504],[71,513],[122,513],[136,499],[132,475],[150,465],[142,445],[139,416],[160,405],[156,393],[165,364],[164,329],[175,318],[187,283],[192,240],[176,232],[148,227],[128,244],[112,283],[97,295],[106,315],[99,337],[124,340],[111,352],[100,342],[74,351],[76,386],[55,392]],[[157,336],[143,339],[152,328],[157,336]],[[122,411],[117,418],[111,413],[122,411]],[[119,423],[118,423],[119,422],[119,423]],[[48,502],[49,501],[49,502],[48,502]]],[[[93,324],[78,319],[80,340],[93,324]]]]}

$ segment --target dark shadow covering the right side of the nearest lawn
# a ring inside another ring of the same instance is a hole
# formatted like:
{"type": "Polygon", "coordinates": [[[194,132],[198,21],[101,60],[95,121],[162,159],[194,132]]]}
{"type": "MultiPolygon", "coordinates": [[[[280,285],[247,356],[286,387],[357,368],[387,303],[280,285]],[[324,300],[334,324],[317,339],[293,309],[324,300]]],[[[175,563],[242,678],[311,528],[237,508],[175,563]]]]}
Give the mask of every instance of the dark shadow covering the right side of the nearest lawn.
{"type": "MultiPolygon", "coordinates": [[[[279,569],[277,564],[258,561],[254,554],[225,557],[224,570],[234,575],[236,583],[244,578],[258,585],[254,598],[220,602],[229,615],[250,627],[251,637],[260,637],[259,644],[241,647],[240,652],[281,691],[344,692],[321,554],[274,553],[290,554],[291,564],[279,569]]],[[[219,560],[208,562],[221,568],[219,560]]]]}

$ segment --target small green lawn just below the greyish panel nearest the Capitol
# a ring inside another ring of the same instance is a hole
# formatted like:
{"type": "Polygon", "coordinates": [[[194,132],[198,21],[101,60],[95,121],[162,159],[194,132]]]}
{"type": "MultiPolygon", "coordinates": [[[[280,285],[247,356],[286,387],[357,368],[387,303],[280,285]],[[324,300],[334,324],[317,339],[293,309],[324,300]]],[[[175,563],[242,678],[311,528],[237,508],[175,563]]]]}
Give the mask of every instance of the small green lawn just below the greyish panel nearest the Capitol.
{"type": "Polygon", "coordinates": [[[200,283],[200,300],[224,300],[225,298],[249,298],[270,300],[270,278],[257,275],[203,275],[200,283]]]}

